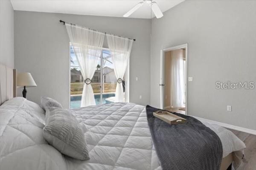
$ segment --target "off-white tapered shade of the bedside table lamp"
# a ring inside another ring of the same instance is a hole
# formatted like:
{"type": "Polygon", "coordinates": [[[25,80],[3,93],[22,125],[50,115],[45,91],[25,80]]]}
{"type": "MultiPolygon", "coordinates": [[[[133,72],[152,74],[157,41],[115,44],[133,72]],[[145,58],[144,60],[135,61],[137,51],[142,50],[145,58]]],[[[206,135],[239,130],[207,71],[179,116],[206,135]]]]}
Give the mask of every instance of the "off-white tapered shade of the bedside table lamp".
{"type": "Polygon", "coordinates": [[[35,87],[35,81],[30,73],[18,73],[17,74],[17,86],[22,87],[35,87]]]}

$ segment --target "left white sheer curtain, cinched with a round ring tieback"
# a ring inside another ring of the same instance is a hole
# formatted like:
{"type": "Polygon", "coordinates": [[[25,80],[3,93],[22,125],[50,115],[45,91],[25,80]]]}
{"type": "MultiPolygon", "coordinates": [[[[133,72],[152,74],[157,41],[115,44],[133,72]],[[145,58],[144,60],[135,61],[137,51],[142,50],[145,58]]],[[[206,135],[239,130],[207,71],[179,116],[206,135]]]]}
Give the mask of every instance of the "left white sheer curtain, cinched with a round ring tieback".
{"type": "Polygon", "coordinates": [[[102,54],[105,33],[66,23],[67,33],[76,54],[84,83],[81,107],[96,105],[90,81],[102,54]]]}

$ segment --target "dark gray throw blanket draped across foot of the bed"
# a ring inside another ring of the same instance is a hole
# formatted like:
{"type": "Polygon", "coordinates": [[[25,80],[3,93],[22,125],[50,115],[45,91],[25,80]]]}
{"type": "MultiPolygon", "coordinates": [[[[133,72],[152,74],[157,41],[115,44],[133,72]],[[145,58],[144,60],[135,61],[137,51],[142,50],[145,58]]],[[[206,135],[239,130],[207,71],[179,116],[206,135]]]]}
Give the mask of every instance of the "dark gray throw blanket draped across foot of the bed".
{"type": "Polygon", "coordinates": [[[163,170],[219,170],[222,160],[221,140],[198,119],[179,113],[186,123],[170,125],[153,116],[162,111],[146,106],[151,138],[163,170]]]}

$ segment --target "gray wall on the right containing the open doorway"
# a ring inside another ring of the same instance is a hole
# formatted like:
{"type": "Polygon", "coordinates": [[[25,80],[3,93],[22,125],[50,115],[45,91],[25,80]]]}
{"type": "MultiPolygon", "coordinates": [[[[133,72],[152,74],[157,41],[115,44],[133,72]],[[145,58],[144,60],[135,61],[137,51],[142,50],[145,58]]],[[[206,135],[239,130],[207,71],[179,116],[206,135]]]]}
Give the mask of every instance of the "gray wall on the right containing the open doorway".
{"type": "Polygon", "coordinates": [[[160,106],[160,49],[188,43],[188,114],[256,130],[256,1],[185,1],[152,20],[151,105],[160,106]],[[232,105],[232,112],[227,111],[232,105]]]}

